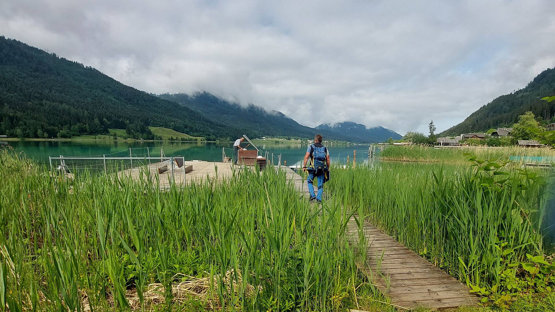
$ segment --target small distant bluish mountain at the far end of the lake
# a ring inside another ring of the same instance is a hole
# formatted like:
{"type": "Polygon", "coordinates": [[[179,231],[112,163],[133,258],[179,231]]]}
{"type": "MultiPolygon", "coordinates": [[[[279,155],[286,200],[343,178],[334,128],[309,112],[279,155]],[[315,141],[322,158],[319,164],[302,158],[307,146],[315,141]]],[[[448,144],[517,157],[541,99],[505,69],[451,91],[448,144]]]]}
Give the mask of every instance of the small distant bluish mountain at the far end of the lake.
{"type": "Polygon", "coordinates": [[[316,127],[319,130],[329,130],[349,137],[359,138],[367,142],[384,142],[389,138],[394,140],[401,139],[401,134],[384,127],[366,128],[366,125],[354,122],[342,122],[334,124],[320,124],[316,127]]]}

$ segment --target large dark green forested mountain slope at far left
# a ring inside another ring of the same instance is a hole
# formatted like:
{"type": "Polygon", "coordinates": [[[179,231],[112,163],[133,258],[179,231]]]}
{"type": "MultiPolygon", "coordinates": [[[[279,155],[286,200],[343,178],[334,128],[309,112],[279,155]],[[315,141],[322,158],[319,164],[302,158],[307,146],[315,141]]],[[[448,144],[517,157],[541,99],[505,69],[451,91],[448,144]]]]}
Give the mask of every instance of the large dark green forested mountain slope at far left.
{"type": "Polygon", "coordinates": [[[242,134],[97,69],[0,36],[0,134],[71,137],[121,128],[130,137],[150,139],[148,126],[213,140],[242,134]]]}

